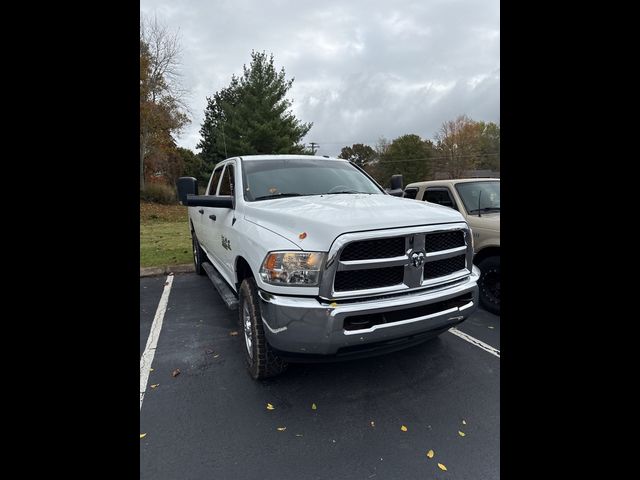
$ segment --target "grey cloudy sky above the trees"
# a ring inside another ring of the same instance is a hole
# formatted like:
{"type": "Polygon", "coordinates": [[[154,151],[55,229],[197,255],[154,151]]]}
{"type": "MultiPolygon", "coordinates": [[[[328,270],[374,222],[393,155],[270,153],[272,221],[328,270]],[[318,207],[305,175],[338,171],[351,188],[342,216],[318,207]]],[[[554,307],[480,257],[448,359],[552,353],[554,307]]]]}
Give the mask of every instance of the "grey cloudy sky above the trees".
{"type": "Polygon", "coordinates": [[[304,142],[318,154],[415,133],[432,139],[467,114],[500,121],[498,0],[141,0],[140,11],[177,30],[192,124],[178,144],[195,150],[206,97],[273,53],[295,78],[289,98],[304,142]]]}

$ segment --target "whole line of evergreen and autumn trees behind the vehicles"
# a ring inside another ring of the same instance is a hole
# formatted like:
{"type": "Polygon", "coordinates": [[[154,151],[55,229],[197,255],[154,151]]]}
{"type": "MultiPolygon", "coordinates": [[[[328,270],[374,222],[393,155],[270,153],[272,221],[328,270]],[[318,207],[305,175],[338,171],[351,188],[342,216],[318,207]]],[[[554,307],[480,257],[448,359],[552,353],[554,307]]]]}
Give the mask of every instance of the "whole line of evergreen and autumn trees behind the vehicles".
{"type": "MultiPolygon", "coordinates": [[[[207,98],[199,153],[176,145],[190,122],[186,91],[180,85],[180,46],[176,34],[143,19],[140,24],[140,190],[161,179],[170,185],[188,175],[207,182],[216,163],[253,154],[312,154],[302,143],[312,123],[298,120],[287,98],[294,79],[276,69],[273,55],[251,52],[249,65],[229,85],[207,98]]],[[[434,140],[416,134],[374,146],[355,143],[340,158],[363,167],[379,183],[402,173],[405,183],[439,174],[451,178],[475,169],[500,169],[500,126],[466,115],[446,121],[434,140]]]]}

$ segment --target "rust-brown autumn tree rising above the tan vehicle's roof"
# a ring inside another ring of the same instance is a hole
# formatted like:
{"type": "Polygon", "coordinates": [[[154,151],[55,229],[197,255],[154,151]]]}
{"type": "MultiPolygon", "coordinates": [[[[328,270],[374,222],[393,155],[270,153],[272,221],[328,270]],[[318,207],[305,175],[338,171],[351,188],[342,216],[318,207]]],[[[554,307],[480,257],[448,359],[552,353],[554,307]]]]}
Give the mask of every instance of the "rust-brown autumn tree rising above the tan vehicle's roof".
{"type": "Polygon", "coordinates": [[[466,115],[442,124],[436,133],[437,148],[442,154],[440,168],[450,178],[460,178],[473,170],[479,161],[480,126],[466,115]]]}

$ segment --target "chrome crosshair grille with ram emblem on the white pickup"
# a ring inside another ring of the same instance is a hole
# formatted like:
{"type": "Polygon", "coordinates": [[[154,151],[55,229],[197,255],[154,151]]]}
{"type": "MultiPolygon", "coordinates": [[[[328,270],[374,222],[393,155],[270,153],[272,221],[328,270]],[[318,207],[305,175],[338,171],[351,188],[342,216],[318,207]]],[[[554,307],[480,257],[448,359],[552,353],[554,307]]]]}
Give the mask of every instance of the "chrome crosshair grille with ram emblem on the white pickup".
{"type": "Polygon", "coordinates": [[[335,266],[326,272],[330,283],[325,284],[325,298],[427,287],[470,274],[473,252],[466,225],[408,227],[402,232],[381,232],[381,238],[371,238],[374,232],[346,234],[335,266]],[[372,289],[377,290],[368,292],[372,289]]]}

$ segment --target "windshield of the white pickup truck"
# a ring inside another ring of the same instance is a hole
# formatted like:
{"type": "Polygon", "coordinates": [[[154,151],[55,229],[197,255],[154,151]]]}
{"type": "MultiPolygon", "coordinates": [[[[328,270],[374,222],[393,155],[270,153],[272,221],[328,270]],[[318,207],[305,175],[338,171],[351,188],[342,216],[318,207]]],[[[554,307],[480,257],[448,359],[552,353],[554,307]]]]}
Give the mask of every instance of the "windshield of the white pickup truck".
{"type": "Polygon", "coordinates": [[[243,160],[244,198],[252,202],[279,197],[383,194],[349,162],[318,159],[243,160]]]}

